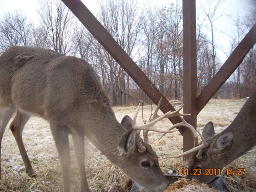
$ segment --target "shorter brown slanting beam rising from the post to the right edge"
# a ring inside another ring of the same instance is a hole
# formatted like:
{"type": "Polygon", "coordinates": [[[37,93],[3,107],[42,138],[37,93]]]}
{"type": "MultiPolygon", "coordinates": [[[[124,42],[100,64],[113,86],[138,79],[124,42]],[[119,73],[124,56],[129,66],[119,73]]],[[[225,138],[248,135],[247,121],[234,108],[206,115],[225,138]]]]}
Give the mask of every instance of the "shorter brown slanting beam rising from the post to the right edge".
{"type": "Polygon", "coordinates": [[[256,24],[230,54],[220,70],[207,84],[197,98],[197,114],[204,108],[212,96],[221,88],[230,75],[239,67],[246,54],[256,42],[256,24]]]}

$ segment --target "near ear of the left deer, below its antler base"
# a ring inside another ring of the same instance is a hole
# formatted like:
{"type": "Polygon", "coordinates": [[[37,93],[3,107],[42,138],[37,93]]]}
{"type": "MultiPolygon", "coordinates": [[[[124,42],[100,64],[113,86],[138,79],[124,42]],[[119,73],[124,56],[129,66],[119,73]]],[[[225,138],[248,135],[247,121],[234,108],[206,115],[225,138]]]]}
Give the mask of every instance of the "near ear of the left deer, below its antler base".
{"type": "Polygon", "coordinates": [[[136,147],[136,130],[127,131],[123,134],[121,140],[118,143],[117,149],[119,156],[121,155],[130,155],[134,152],[136,147]]]}

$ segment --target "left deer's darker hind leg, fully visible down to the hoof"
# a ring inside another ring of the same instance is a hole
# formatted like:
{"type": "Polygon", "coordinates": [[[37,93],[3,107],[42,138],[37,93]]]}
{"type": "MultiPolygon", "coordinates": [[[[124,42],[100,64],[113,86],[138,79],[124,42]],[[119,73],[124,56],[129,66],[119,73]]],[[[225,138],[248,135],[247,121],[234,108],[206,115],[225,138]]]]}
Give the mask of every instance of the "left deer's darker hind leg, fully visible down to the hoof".
{"type": "Polygon", "coordinates": [[[13,121],[10,124],[10,129],[17,142],[20,155],[22,155],[22,159],[25,164],[26,173],[30,177],[35,177],[36,175],[32,168],[31,162],[29,160],[29,157],[26,152],[26,148],[24,146],[23,139],[22,139],[24,126],[28,122],[29,118],[30,118],[30,115],[26,113],[22,113],[19,110],[17,110],[16,116],[14,117],[13,121]]]}

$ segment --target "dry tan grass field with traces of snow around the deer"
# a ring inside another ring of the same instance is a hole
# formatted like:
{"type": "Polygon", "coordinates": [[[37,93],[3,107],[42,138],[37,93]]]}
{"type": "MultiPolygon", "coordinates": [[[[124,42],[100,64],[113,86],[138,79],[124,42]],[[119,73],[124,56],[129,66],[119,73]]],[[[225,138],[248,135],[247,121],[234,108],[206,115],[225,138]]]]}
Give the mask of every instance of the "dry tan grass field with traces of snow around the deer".
{"type": "MultiPolygon", "coordinates": [[[[221,132],[236,117],[244,102],[245,99],[211,100],[198,115],[198,129],[201,131],[208,121],[213,121],[216,133],[221,132]]],[[[176,104],[176,109],[179,104],[176,104]]],[[[121,121],[124,115],[132,117],[136,106],[115,107],[113,109],[117,119],[121,121]]],[[[151,106],[144,106],[143,117],[148,119],[150,114],[151,106]]],[[[138,123],[143,123],[141,111],[137,121],[138,123]]],[[[156,126],[167,128],[169,125],[170,122],[168,120],[162,120],[156,126]]],[[[182,136],[179,132],[175,132],[157,141],[159,136],[160,134],[150,133],[150,142],[159,156],[159,163],[163,172],[167,173],[168,170],[174,170],[177,174],[180,174],[180,169],[186,168],[187,162],[183,161],[182,158],[169,159],[165,158],[165,156],[182,152],[182,136]]],[[[11,131],[6,129],[2,144],[2,181],[0,181],[0,191],[60,191],[62,187],[61,171],[48,122],[38,117],[32,117],[25,126],[23,138],[37,177],[30,178],[25,173],[23,160],[19,155],[14,137],[11,131]]],[[[252,148],[245,155],[228,165],[229,168],[237,167],[245,168],[246,170],[244,176],[227,177],[223,175],[230,191],[256,190],[255,150],[256,147],[252,148]]],[[[79,172],[74,157],[72,141],[71,154],[72,191],[80,191],[79,172]]],[[[88,140],[86,142],[86,154],[88,183],[92,191],[129,191],[129,186],[131,186],[129,178],[102,156],[88,140]]]]}

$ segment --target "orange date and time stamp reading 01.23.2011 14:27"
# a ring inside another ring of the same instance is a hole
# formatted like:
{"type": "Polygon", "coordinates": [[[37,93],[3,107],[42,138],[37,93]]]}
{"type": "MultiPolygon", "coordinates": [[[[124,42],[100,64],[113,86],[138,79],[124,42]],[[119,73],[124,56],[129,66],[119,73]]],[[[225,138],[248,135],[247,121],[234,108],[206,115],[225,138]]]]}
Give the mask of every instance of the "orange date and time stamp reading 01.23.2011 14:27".
{"type": "MultiPolygon", "coordinates": [[[[221,175],[222,169],[220,168],[205,168],[202,171],[201,168],[194,168],[192,172],[188,172],[188,168],[181,169],[181,175],[192,175],[192,176],[219,176],[221,175]]],[[[245,173],[245,168],[226,168],[223,170],[223,174],[228,175],[238,175],[242,176],[245,173]]]]}

